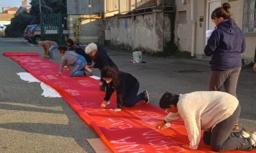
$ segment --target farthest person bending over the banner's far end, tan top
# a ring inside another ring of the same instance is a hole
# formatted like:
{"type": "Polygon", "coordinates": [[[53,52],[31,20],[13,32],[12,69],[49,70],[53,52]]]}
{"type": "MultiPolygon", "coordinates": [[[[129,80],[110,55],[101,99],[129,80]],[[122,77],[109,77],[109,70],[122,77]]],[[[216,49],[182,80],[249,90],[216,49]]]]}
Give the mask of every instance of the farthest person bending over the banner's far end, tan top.
{"type": "Polygon", "coordinates": [[[54,41],[38,41],[38,46],[44,48],[44,58],[53,59],[53,50],[58,47],[58,44],[54,41]]]}

